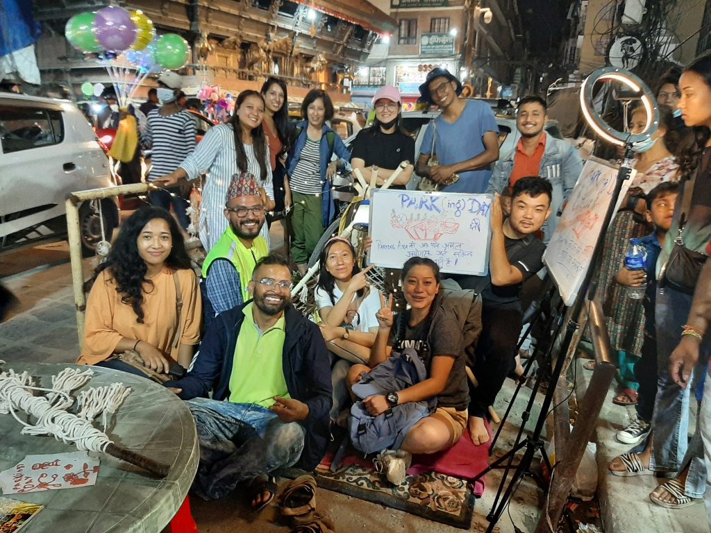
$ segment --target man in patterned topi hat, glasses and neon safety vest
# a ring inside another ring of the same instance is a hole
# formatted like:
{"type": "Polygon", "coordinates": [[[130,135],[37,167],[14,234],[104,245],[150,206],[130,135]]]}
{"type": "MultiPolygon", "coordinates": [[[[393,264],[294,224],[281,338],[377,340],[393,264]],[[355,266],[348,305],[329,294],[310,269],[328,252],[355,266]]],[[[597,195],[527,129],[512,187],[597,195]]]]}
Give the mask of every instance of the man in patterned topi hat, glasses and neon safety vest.
{"type": "Polygon", "coordinates": [[[247,301],[247,284],[259,259],[269,253],[260,231],[264,225],[264,199],[251,175],[232,178],[227,191],[225,217],[230,222],[203,263],[205,330],[215,316],[247,301]]]}

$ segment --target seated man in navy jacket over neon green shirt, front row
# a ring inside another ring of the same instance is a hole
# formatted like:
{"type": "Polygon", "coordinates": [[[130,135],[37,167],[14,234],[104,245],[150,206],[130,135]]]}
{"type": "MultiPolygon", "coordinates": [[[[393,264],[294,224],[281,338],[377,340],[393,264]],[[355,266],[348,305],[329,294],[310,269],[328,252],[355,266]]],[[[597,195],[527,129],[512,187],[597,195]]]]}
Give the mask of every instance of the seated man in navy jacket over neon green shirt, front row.
{"type": "Polygon", "coordinates": [[[245,481],[260,509],[277,492],[274,470],[313,470],[326,453],[328,350],[319,327],[291,305],[291,289],[286,259],[257,261],[249,282],[254,299],[216,317],[191,372],[166,383],[190,400],[196,421],[198,496],[224,497],[245,481]]]}

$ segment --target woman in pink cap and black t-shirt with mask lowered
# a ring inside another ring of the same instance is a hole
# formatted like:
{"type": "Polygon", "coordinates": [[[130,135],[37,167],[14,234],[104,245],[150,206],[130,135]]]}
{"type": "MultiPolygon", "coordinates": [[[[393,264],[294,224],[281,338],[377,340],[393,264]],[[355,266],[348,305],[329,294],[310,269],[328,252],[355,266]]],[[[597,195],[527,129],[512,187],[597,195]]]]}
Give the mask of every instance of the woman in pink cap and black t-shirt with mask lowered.
{"type": "Polygon", "coordinates": [[[412,178],[415,167],[415,139],[397,127],[400,122],[400,91],[392,85],[380,87],[373,97],[375,121],[370,128],[362,129],[353,140],[351,166],[360,168],[365,181],[370,179],[373,167],[378,168],[378,187],[390,178],[402,161],[411,164],[395,178],[390,188],[404,189],[412,178]]]}

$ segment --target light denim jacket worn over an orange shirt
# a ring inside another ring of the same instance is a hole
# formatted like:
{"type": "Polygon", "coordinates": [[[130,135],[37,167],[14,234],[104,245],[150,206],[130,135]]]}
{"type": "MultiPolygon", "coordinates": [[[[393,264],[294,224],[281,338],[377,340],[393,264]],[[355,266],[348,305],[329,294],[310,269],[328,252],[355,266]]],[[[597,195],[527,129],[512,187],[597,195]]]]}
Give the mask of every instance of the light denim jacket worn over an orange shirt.
{"type": "MultiPolygon", "coordinates": [[[[491,181],[487,193],[499,193],[508,185],[508,178],[513,171],[513,159],[516,155],[516,146],[508,154],[502,154],[493,168],[491,181]]],[[[553,198],[550,202],[550,217],[543,225],[544,242],[550,241],[560,219],[563,204],[570,198],[577,178],[582,172],[582,159],[577,150],[563,139],[556,139],[546,134],[545,151],[540,160],[539,176],[547,178],[553,185],[553,198]]]]}

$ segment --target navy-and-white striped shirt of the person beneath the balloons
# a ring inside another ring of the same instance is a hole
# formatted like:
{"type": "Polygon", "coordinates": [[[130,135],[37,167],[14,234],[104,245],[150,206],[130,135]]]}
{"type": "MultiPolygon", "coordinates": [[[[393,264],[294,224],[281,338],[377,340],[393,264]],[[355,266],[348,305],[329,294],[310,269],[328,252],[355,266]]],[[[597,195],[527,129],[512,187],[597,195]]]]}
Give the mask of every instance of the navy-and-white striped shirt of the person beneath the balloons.
{"type": "Polygon", "coordinates": [[[151,146],[148,181],[173,172],[195,150],[195,119],[187,111],[162,116],[159,109],[149,112],[143,144],[151,146]]]}

